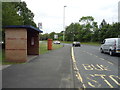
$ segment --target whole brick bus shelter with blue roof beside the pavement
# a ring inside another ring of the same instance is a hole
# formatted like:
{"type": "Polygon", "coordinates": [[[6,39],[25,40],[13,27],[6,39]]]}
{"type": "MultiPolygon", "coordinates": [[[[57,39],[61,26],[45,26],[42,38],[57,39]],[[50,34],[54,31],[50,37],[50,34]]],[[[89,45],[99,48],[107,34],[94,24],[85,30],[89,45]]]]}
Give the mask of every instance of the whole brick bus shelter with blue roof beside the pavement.
{"type": "Polygon", "coordinates": [[[5,26],[5,60],[26,62],[28,55],[39,55],[39,33],[28,25],[5,26]]]}

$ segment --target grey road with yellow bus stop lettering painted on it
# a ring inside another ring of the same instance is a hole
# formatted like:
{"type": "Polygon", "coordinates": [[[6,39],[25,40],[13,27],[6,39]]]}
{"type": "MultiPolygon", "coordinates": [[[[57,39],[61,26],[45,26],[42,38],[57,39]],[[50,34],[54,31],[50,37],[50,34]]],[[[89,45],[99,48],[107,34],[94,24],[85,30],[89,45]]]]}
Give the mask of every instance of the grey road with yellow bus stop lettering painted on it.
{"type": "Polygon", "coordinates": [[[84,88],[118,88],[118,60],[120,56],[109,56],[99,52],[98,46],[73,47],[77,69],[76,77],[84,88]]]}

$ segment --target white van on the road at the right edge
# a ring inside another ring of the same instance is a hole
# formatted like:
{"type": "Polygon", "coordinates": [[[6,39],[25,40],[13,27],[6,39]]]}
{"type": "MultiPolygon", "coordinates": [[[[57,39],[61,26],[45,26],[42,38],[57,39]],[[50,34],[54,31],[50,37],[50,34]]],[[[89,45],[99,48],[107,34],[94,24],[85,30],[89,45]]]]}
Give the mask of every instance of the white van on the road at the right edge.
{"type": "Polygon", "coordinates": [[[101,44],[101,53],[120,54],[120,38],[107,38],[101,44]]]}

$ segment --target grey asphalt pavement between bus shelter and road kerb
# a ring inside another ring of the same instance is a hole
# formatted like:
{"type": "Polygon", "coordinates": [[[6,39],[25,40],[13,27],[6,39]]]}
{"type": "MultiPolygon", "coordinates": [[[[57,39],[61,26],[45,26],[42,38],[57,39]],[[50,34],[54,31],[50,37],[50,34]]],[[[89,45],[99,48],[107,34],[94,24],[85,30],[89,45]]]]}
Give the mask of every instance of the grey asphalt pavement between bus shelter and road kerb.
{"type": "Polygon", "coordinates": [[[71,46],[2,70],[3,88],[74,88],[71,46]]]}

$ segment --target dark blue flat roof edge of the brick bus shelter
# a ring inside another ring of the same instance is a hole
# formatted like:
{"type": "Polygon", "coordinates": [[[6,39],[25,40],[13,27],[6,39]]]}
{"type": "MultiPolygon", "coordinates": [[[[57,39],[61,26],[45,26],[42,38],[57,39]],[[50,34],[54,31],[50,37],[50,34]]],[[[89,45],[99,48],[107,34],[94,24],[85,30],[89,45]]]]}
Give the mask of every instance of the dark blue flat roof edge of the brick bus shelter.
{"type": "Polygon", "coordinates": [[[36,30],[40,33],[43,33],[43,31],[31,25],[9,25],[9,26],[4,26],[3,28],[26,28],[26,29],[36,30]]]}

